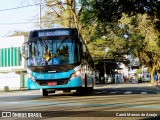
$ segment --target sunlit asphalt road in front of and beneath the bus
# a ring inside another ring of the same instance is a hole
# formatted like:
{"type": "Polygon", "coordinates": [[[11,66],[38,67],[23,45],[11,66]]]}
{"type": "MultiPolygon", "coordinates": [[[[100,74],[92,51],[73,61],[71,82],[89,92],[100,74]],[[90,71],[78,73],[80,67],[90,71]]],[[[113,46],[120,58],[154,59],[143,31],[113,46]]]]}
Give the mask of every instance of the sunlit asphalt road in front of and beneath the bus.
{"type": "Polygon", "coordinates": [[[45,120],[160,119],[160,90],[148,84],[99,85],[93,93],[87,95],[72,91],[69,94],[57,92],[43,97],[39,90],[0,93],[0,111],[17,111],[20,116],[12,114],[14,119],[28,117],[28,112],[36,112],[37,115],[29,116],[30,119],[45,120]]]}

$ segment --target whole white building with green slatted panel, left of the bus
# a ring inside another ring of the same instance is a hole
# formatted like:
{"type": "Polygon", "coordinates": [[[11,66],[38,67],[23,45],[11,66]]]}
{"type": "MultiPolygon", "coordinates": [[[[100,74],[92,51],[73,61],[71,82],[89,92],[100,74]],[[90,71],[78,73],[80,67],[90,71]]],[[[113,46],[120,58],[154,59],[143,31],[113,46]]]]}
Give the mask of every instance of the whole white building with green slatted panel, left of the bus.
{"type": "Polygon", "coordinates": [[[26,41],[25,36],[0,39],[0,89],[27,88],[26,61],[21,55],[26,41]]]}

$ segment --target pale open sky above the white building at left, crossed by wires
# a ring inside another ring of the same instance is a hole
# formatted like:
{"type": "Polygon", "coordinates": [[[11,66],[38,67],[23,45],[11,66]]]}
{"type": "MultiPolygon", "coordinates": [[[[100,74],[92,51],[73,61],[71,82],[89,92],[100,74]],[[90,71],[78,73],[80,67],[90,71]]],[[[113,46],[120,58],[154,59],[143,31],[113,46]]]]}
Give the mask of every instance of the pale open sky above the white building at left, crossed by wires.
{"type": "Polygon", "coordinates": [[[0,0],[0,38],[7,37],[15,31],[38,29],[39,5],[17,8],[35,4],[34,0],[0,0]],[[17,8],[12,9],[11,8],[17,8]],[[7,10],[8,9],[8,10],[7,10]],[[21,24],[23,23],[23,24],[21,24]]]}

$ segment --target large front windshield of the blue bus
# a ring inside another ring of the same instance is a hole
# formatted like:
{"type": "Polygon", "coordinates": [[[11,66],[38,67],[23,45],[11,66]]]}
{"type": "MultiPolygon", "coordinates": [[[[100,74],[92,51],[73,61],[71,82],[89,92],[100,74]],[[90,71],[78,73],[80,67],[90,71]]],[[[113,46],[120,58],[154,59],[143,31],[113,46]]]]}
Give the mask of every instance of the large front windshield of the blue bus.
{"type": "Polygon", "coordinates": [[[53,66],[80,62],[75,40],[37,40],[28,43],[28,66],[53,66]]]}

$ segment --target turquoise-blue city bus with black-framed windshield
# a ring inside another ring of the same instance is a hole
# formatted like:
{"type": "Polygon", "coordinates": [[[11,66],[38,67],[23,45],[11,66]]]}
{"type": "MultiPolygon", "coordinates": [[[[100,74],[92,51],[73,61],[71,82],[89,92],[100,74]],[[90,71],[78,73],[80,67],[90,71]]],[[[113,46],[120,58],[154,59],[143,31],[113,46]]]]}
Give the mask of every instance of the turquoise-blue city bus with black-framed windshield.
{"type": "Polygon", "coordinates": [[[43,96],[56,90],[78,93],[94,89],[94,62],[76,28],[34,30],[23,43],[28,79],[43,96]]]}

